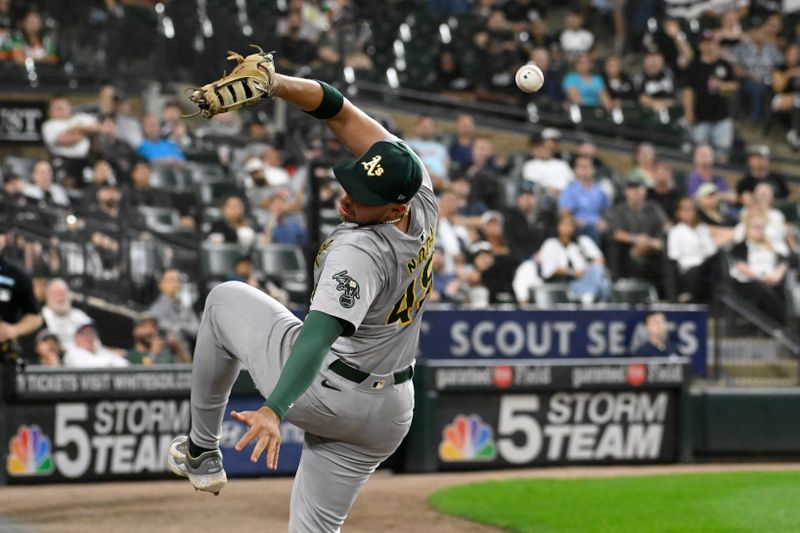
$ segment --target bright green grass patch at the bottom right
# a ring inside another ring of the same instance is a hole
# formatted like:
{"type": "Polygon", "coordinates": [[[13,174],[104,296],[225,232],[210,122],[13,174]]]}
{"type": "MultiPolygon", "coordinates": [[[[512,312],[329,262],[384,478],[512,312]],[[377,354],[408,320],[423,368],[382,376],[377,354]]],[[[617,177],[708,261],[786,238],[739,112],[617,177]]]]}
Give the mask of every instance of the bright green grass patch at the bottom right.
{"type": "Polygon", "coordinates": [[[438,511],[510,531],[800,531],[800,472],[519,479],[435,492],[438,511]]]}

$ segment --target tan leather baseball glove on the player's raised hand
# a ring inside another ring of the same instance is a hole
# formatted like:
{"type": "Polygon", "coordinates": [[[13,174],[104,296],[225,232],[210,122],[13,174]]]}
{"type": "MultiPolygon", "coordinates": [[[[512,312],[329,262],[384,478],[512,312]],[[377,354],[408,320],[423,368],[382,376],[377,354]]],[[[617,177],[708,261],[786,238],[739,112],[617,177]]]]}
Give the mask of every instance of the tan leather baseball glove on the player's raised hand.
{"type": "Polygon", "coordinates": [[[271,98],[275,92],[275,65],[272,53],[266,53],[260,46],[251,44],[258,50],[256,54],[242,57],[241,54],[228,51],[228,59],[236,61],[236,67],[230,74],[191,91],[189,100],[197,104],[197,113],[186,115],[194,117],[202,115],[211,118],[218,113],[225,113],[240,107],[255,104],[262,98],[271,98]]]}

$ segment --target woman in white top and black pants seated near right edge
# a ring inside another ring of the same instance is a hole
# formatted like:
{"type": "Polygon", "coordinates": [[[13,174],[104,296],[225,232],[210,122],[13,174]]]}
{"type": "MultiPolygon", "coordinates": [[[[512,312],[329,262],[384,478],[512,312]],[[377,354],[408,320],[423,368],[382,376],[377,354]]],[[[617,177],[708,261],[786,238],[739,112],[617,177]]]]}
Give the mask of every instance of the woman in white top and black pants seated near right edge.
{"type": "Polygon", "coordinates": [[[788,264],[767,240],[766,220],[751,216],[745,225],[745,240],[731,250],[735,293],[779,324],[786,323],[783,282],[788,264]]]}

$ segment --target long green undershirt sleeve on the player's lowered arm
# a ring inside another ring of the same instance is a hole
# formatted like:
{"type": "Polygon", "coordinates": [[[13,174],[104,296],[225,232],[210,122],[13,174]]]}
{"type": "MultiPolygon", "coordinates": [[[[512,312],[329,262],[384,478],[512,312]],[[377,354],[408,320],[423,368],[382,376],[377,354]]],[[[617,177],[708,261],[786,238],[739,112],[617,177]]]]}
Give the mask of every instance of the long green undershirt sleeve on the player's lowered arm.
{"type": "Polygon", "coordinates": [[[343,331],[337,318],[320,311],[308,313],[278,383],[264,402],[281,420],[314,382],[325,355],[343,331]]]}

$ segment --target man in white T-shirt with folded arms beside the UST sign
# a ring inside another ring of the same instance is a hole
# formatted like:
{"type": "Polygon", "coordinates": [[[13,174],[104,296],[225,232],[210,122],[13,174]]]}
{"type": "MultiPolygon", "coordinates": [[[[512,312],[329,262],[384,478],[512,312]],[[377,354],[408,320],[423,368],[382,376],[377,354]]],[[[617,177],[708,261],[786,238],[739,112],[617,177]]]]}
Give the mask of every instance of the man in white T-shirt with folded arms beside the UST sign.
{"type": "Polygon", "coordinates": [[[97,119],[86,113],[72,114],[65,96],[50,99],[49,118],[42,124],[42,138],[53,166],[64,185],[77,187],[89,165],[90,137],[100,131],[97,119]]]}

